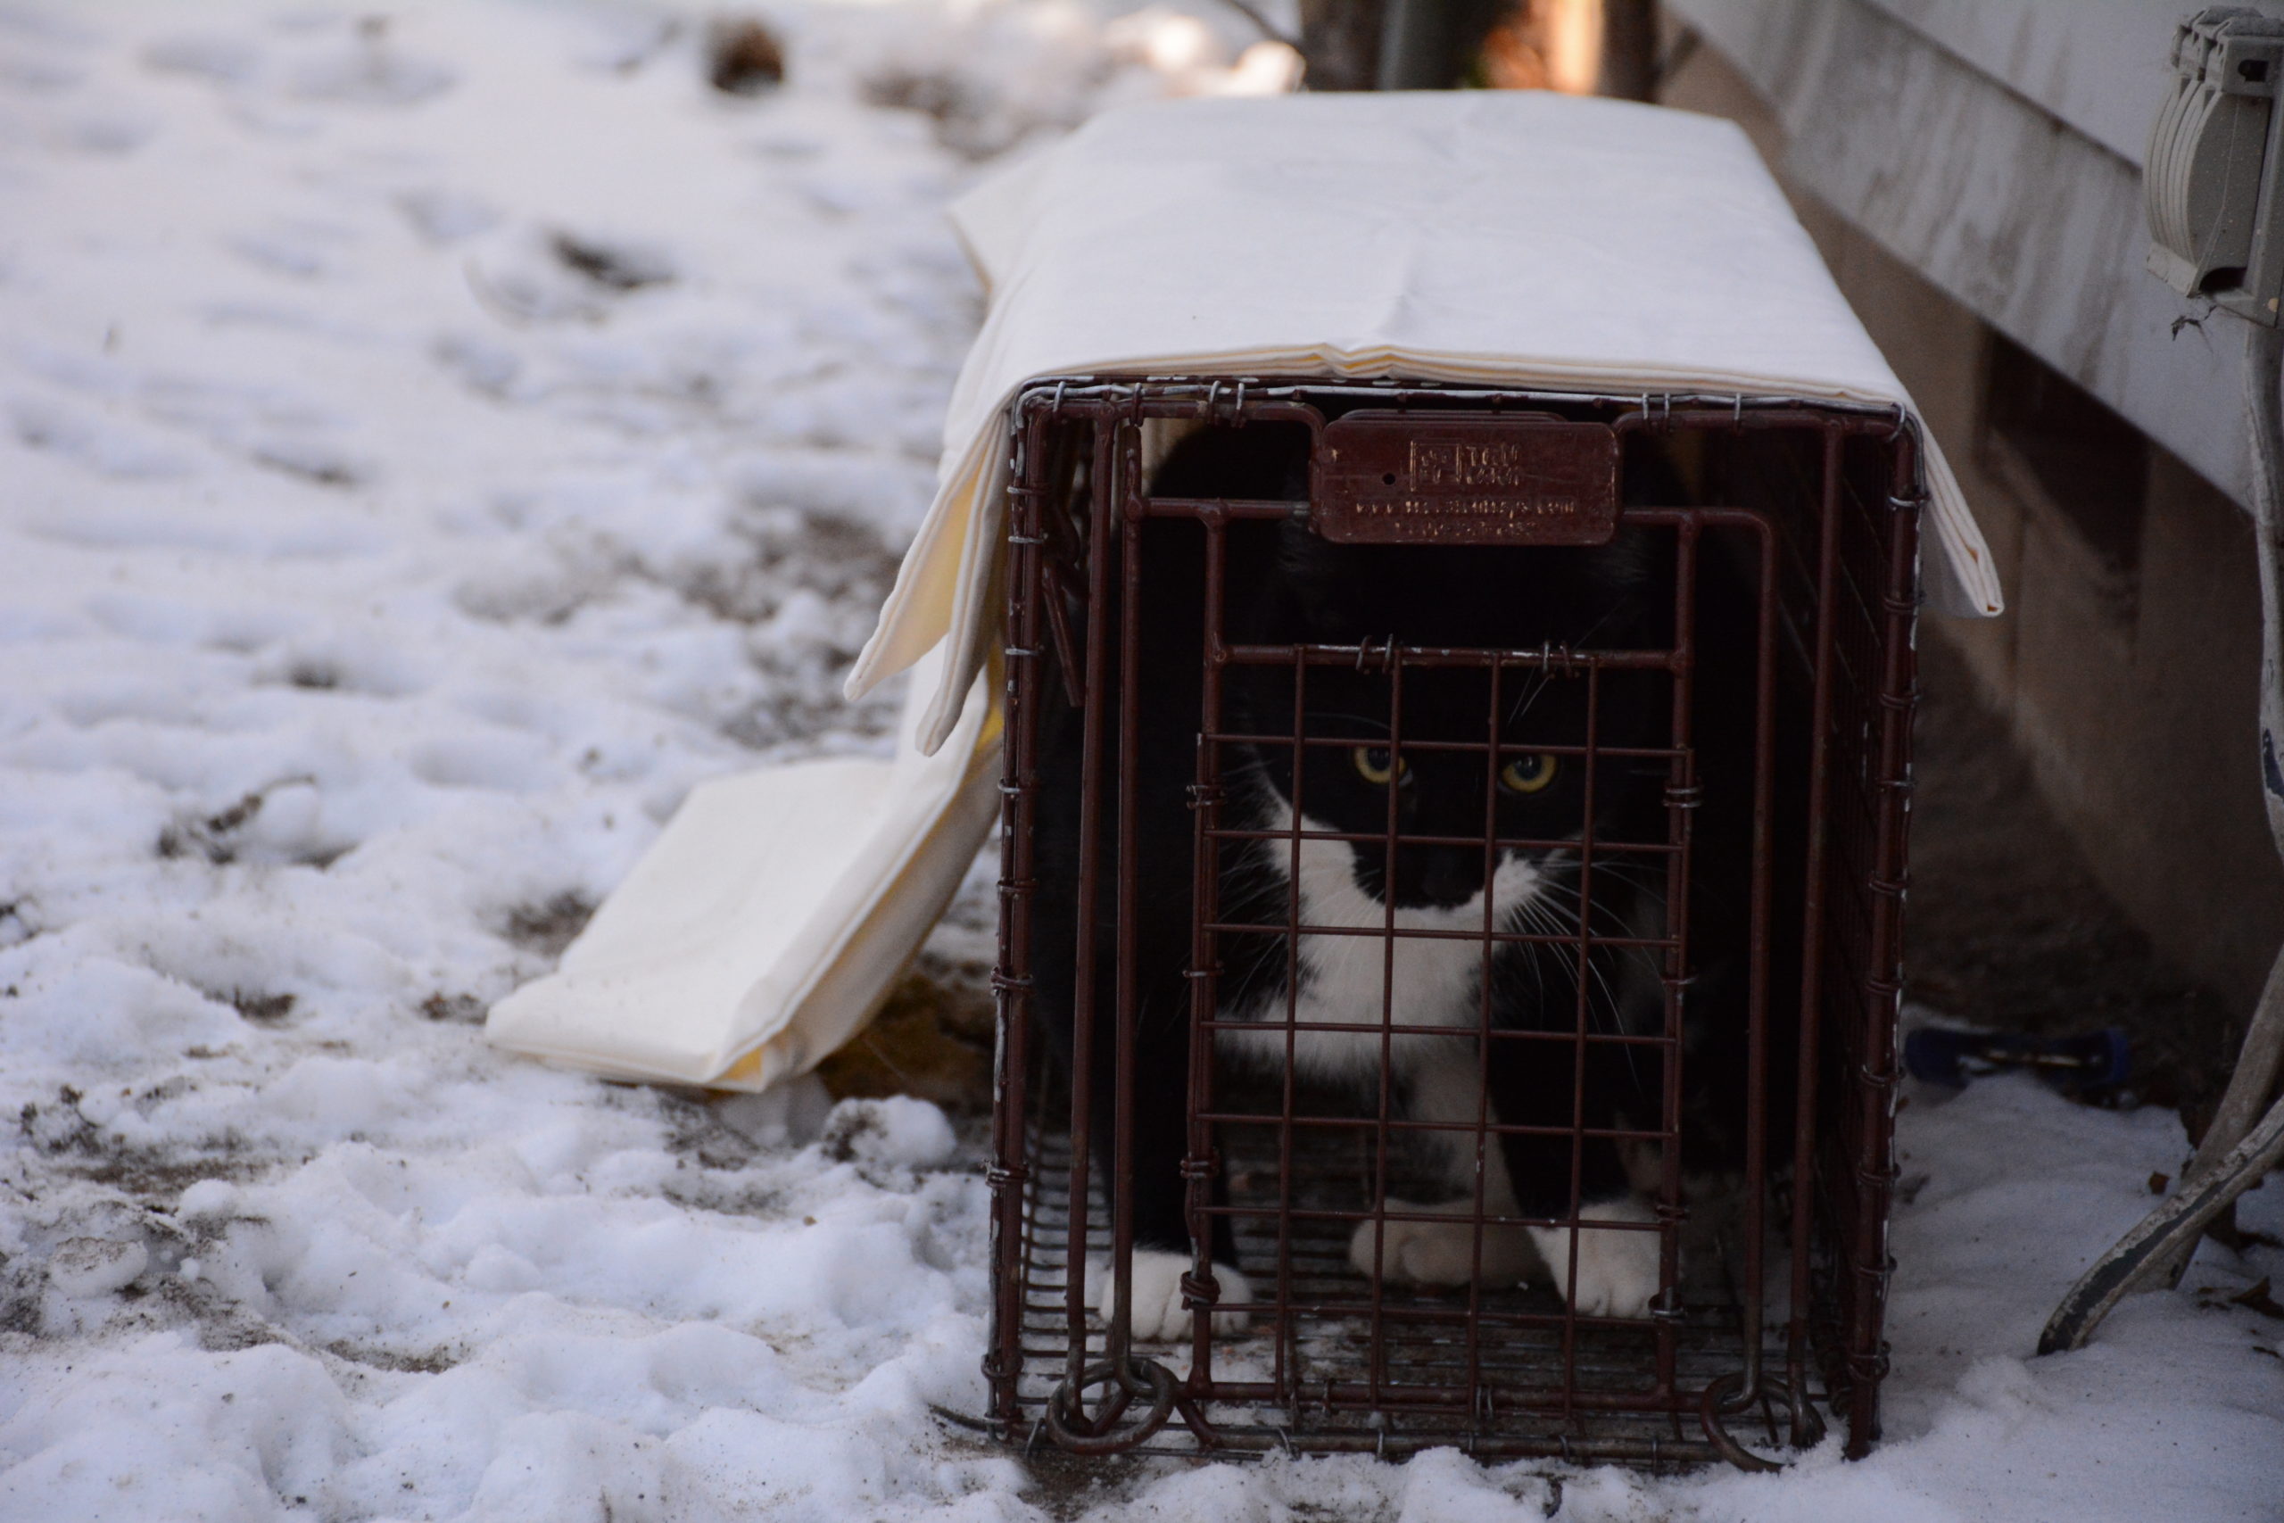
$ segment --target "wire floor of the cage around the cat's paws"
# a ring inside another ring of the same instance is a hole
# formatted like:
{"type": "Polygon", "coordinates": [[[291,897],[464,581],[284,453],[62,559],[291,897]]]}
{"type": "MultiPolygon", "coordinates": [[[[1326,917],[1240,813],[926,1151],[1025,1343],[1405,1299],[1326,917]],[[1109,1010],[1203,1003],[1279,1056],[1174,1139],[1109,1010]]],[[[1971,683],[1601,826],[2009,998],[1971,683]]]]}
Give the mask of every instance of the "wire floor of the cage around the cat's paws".
{"type": "MultiPolygon", "coordinates": [[[[1051,1443],[1042,1420],[1069,1365],[1069,1139],[1035,1137],[1026,1187],[1023,1270],[1023,1370],[1016,1381],[1021,1420],[1012,1441],[1051,1443]]],[[[1274,1196],[1258,1180],[1274,1180],[1274,1158],[1231,1160],[1231,1206],[1238,1208],[1238,1267],[1252,1276],[1256,1295],[1274,1297],[1274,1219],[1242,1212],[1274,1212],[1274,1196]],[[1256,1226],[1258,1224],[1258,1226],[1256,1226]],[[1261,1231],[1268,1228],[1268,1231],[1261,1231]]],[[[1354,1153],[1338,1146],[1295,1151],[1293,1206],[1332,1208],[1354,1194],[1354,1153]]],[[[1343,1201],[1350,1208],[1352,1201],[1343,1201]]],[[[1089,1286],[1110,1260],[1110,1231],[1099,1190],[1087,1210],[1089,1286]]],[[[1736,1297],[1740,1265],[1734,1256],[1695,1251],[1683,1256],[1683,1313],[1674,1327],[1674,1375],[1667,1397],[1654,1407],[1608,1407],[1597,1402],[1642,1402],[1656,1397],[1656,1331],[1649,1324],[1578,1324],[1565,1356],[1562,1302],[1546,1288],[1480,1290],[1478,1333],[1469,1349],[1469,1290],[1384,1286],[1380,1292],[1380,1349],[1370,1368],[1370,1315],[1334,1311],[1370,1299],[1370,1281],[1348,1260],[1350,1224],[1295,1219],[1290,1233],[1290,1317],[1254,1315],[1245,1331],[1215,1331],[1213,1386],[1199,1404],[1213,1429],[1204,1443],[1181,1416],[1137,1443],[1135,1454],[1227,1454],[1227,1452],[1380,1452],[1407,1454],[1455,1445],[1480,1457],[1555,1457],[1578,1461],[1628,1461],[1644,1466],[1697,1466],[1722,1459],[1697,1418],[1699,1393],[1740,1370],[1743,1320],[1736,1297]],[[1320,1311],[1325,1308],[1325,1311],[1320,1311]],[[1288,1327],[1290,1322],[1290,1327],[1288,1327]],[[1281,1356],[1281,1370],[1279,1370],[1281,1356]],[[1466,1372],[1473,1356],[1475,1402],[1469,1404],[1466,1372]],[[1565,1368],[1574,1372],[1565,1381],[1565,1368]],[[1286,1400],[1227,1397],[1236,1386],[1284,1391],[1286,1400]],[[1375,1395],[1380,1400],[1375,1400],[1375,1395]]],[[[1101,1317],[1087,1315],[1085,1365],[1105,1354],[1101,1317]]],[[[1135,1354],[1188,1377],[1190,1345],[1135,1343],[1135,1354]]],[[[1766,1329],[1763,1359],[1784,1370],[1784,1329],[1766,1329]]],[[[1820,1407],[1825,1391],[1811,1381],[1820,1407]]],[[[1779,1445],[1784,1411],[1768,1400],[1759,1411],[1729,1418],[1729,1429],[1754,1445],[1779,1445]]]]}

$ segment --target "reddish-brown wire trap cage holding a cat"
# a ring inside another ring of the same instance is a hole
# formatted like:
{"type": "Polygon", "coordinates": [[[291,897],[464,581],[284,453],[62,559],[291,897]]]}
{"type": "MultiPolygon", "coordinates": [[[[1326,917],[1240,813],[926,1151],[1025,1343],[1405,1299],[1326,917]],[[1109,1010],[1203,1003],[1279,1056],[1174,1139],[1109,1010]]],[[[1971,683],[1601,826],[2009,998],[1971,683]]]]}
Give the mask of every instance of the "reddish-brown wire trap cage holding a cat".
{"type": "Polygon", "coordinates": [[[1019,395],[1005,1441],[1768,1468],[1829,1413],[1871,1448],[1916,445],[1791,397],[1019,395]],[[1320,546],[1480,617],[1279,623],[1320,546]],[[1624,632],[1546,612],[1610,566],[1624,632]]]}

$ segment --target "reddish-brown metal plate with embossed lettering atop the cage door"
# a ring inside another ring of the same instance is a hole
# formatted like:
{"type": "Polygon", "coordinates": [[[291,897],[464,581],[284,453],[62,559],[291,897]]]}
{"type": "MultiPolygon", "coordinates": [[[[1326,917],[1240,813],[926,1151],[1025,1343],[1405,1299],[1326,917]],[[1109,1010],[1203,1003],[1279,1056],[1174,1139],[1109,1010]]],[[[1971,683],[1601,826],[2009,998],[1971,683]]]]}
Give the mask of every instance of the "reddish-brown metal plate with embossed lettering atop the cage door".
{"type": "Polygon", "coordinates": [[[1325,425],[1311,523],[1343,546],[1599,546],[1617,432],[1562,418],[1366,411],[1325,425]]]}

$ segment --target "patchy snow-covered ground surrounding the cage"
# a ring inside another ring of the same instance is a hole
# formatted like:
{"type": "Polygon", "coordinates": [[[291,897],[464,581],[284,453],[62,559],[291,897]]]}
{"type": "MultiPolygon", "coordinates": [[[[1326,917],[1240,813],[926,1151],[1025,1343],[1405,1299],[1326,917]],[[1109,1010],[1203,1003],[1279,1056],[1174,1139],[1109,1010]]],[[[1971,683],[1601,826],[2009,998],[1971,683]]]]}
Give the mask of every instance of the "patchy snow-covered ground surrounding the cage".
{"type": "Polygon", "coordinates": [[[2227,1304],[2284,1254],[2026,1359],[2168,1114],[1914,1096],[1864,1464],[1073,1498],[930,1413],[941,1112],[482,1043],[697,779],[884,744],[838,676],[978,313],[941,203],[1247,41],[1108,9],[772,5],[731,98],[671,7],[0,5],[0,1516],[2284,1516],[2227,1304]]]}

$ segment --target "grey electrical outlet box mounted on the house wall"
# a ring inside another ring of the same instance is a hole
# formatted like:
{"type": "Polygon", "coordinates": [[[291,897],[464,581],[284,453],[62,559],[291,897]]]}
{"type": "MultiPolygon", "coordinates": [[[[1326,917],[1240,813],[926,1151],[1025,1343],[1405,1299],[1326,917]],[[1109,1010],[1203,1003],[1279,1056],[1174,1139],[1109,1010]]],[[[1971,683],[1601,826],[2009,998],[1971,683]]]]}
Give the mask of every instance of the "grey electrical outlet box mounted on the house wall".
{"type": "Polygon", "coordinates": [[[2284,21],[2234,5],[2172,39],[2172,91],[2149,130],[2149,272],[2184,297],[2277,324],[2284,297],[2284,21]]]}

